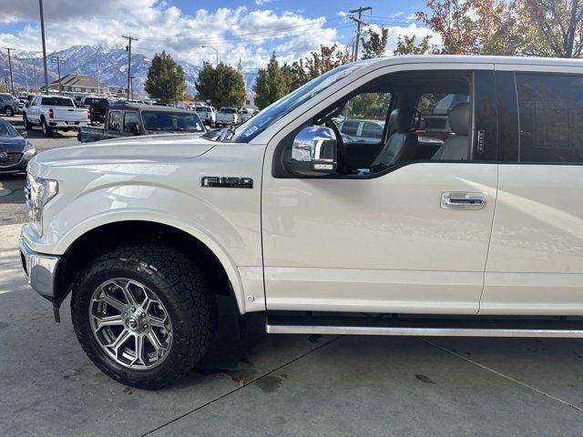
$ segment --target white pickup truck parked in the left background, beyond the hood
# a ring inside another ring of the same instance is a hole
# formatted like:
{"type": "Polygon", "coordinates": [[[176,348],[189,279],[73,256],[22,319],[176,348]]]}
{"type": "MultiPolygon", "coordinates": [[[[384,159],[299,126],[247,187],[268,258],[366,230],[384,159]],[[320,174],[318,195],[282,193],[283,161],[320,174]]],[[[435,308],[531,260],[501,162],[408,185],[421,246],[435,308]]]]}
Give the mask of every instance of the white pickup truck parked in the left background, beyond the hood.
{"type": "Polygon", "coordinates": [[[39,126],[45,137],[54,131],[68,131],[90,124],[89,111],[84,107],[75,107],[71,97],[37,95],[26,104],[23,110],[26,130],[39,126]]]}

